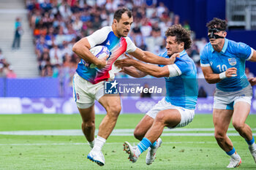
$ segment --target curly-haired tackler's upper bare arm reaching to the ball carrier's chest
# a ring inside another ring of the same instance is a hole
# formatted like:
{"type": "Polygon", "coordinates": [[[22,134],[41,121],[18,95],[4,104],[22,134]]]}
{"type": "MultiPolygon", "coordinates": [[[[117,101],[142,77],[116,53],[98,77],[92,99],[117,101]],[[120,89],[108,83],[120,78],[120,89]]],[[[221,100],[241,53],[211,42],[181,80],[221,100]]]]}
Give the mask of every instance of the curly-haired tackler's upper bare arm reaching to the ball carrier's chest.
{"type": "Polygon", "coordinates": [[[136,61],[132,58],[125,58],[123,60],[116,61],[116,66],[124,67],[124,66],[134,66],[136,69],[149,74],[154,77],[169,77],[170,72],[167,66],[159,67],[154,66],[152,64],[141,63],[140,61],[136,61]]]}

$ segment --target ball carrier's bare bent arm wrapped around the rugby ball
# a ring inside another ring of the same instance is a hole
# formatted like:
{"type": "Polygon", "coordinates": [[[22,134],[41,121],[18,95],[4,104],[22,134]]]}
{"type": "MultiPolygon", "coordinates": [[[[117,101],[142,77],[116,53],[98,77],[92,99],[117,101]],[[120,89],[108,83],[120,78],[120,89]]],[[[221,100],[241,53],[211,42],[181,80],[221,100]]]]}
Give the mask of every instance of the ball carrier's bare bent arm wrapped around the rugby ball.
{"type": "Polygon", "coordinates": [[[75,45],[72,47],[72,51],[76,53],[80,58],[83,58],[83,60],[88,61],[89,63],[94,63],[99,69],[105,67],[107,64],[106,60],[108,56],[98,59],[90,52],[90,48],[91,45],[89,44],[88,39],[85,37],[75,43],[75,45]]]}

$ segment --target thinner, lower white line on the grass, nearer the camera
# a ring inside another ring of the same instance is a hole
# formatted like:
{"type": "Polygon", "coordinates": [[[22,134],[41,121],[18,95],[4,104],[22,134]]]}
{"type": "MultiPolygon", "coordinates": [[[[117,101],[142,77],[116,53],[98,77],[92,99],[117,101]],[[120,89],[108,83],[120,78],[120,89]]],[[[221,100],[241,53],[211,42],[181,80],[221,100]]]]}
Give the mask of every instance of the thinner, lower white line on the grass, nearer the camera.
{"type": "MultiPolygon", "coordinates": [[[[233,142],[236,143],[236,142],[233,142]]],[[[105,144],[114,145],[114,144],[124,144],[124,142],[106,142],[105,144]]],[[[132,142],[132,145],[137,143],[132,142]]],[[[216,144],[216,142],[164,142],[164,144],[216,144]]],[[[0,144],[1,146],[48,146],[48,145],[89,145],[87,143],[31,143],[31,144],[0,144]]]]}

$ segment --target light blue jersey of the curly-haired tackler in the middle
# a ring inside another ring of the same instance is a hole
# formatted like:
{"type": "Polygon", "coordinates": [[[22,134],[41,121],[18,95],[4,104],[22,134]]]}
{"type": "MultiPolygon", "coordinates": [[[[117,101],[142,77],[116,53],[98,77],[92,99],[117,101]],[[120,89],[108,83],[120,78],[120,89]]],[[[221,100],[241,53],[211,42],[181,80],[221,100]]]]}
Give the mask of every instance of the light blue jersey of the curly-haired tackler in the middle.
{"type": "MultiPolygon", "coordinates": [[[[159,54],[164,58],[169,58],[167,52],[159,54]]],[[[189,58],[186,51],[180,53],[180,57],[174,62],[181,75],[176,77],[165,77],[166,96],[165,100],[174,106],[185,109],[195,109],[197,104],[198,86],[197,69],[194,61],[189,58]]],[[[164,65],[159,65],[163,67],[164,65]]]]}

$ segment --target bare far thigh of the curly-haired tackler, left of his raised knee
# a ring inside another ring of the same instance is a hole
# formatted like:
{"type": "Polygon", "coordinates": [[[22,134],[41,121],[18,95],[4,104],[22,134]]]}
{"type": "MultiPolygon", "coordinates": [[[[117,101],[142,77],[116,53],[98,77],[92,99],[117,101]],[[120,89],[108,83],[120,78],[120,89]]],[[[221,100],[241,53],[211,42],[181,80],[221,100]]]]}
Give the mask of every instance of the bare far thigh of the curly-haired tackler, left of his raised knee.
{"type": "Polygon", "coordinates": [[[153,124],[154,119],[148,115],[145,115],[138,125],[136,125],[135,131],[140,131],[140,134],[146,134],[151,125],[153,124]]]}

